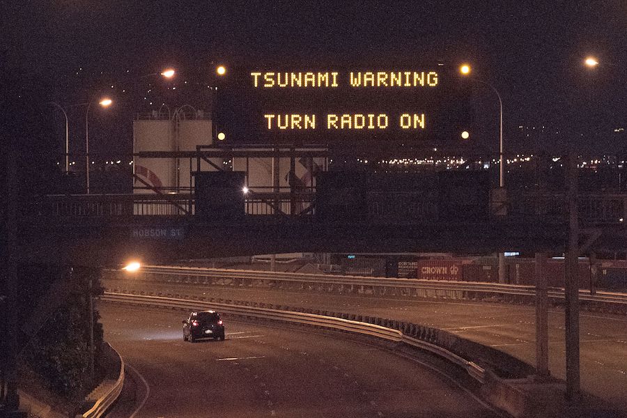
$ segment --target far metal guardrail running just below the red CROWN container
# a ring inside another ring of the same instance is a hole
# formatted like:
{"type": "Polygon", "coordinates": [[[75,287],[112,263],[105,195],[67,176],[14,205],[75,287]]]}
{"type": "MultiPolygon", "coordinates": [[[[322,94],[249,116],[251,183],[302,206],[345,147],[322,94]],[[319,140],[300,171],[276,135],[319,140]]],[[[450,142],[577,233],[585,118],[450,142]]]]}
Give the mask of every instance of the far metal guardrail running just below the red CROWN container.
{"type": "MultiPolygon", "coordinates": [[[[382,277],[355,277],[339,276],[327,274],[304,274],[287,272],[265,272],[255,270],[226,270],[215,268],[190,268],[190,267],[164,267],[157,265],[147,265],[142,267],[141,272],[135,274],[157,274],[180,277],[206,277],[212,279],[235,279],[235,280],[261,280],[261,281],[285,281],[298,284],[318,284],[322,286],[359,286],[364,288],[381,288],[398,290],[403,293],[403,289],[440,292],[460,292],[460,293],[487,293],[493,295],[509,295],[520,297],[535,297],[534,286],[521,286],[516,284],[495,284],[485,282],[467,281],[433,281],[424,279],[389,279],[382,277]]],[[[387,293],[384,292],[384,294],[387,293]]],[[[463,295],[462,295],[463,296],[463,295]]],[[[580,290],[580,300],[587,302],[598,302],[604,304],[617,304],[627,307],[627,294],[598,291],[591,295],[588,291],[580,290]]],[[[564,299],[563,288],[550,288],[548,297],[555,300],[564,299]]],[[[460,297],[464,298],[464,297],[460,297]]]]}

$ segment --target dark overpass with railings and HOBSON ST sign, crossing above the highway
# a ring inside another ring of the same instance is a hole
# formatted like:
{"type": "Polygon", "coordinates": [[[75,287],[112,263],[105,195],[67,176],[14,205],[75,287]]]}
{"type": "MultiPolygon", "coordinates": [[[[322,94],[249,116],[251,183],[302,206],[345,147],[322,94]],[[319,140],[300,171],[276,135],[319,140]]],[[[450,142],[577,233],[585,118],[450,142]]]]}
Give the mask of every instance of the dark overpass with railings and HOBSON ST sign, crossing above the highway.
{"type": "MultiPolygon", "coordinates": [[[[19,254],[31,261],[116,265],[281,252],[564,252],[563,194],[515,194],[506,215],[385,219],[322,217],[316,191],[249,192],[239,216],[196,213],[194,194],[42,196],[17,219],[19,254]],[[304,210],[291,213],[297,199],[304,210]],[[275,208],[288,208],[277,212],[275,208]],[[550,210],[548,210],[550,209],[550,210]]],[[[392,198],[394,199],[394,198],[392,198]]],[[[582,251],[627,248],[627,194],[578,196],[582,251]]]]}

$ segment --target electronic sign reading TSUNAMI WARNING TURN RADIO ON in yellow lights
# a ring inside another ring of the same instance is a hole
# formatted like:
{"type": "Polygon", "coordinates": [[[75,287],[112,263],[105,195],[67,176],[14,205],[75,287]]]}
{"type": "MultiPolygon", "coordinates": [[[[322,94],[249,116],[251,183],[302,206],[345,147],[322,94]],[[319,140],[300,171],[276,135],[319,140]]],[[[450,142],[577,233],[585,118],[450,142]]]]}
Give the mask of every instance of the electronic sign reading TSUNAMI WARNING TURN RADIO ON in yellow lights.
{"type": "Polygon", "coordinates": [[[472,132],[470,86],[451,66],[231,70],[215,106],[236,143],[403,144],[472,132]]]}

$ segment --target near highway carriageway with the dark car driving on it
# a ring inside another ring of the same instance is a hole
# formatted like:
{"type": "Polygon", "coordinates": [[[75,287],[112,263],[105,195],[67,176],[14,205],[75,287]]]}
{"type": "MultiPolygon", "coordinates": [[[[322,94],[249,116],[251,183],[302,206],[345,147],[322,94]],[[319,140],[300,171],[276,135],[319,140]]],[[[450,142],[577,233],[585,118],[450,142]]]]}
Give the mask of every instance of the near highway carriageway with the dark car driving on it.
{"type": "Polygon", "coordinates": [[[98,307],[132,372],[110,418],[499,416],[433,369],[343,334],[224,316],[226,341],[189,343],[183,311],[98,307]]]}

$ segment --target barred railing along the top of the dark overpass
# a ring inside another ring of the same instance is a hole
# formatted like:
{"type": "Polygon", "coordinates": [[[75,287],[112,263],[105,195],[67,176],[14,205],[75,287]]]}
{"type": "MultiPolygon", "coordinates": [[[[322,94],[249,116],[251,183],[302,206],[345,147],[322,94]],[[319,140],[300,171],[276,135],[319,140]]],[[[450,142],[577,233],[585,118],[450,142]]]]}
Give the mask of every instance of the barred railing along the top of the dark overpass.
{"type": "MultiPolygon", "coordinates": [[[[247,215],[311,215],[315,213],[316,192],[249,192],[247,215]]],[[[403,195],[406,199],[407,196],[403,195]]],[[[564,193],[509,192],[507,215],[513,219],[566,219],[567,197],[564,193]]],[[[580,220],[585,224],[621,224],[627,222],[627,194],[580,194],[580,220]]],[[[376,202],[365,210],[378,214],[376,202]]],[[[426,208],[431,210],[432,208],[426,208]]],[[[404,222],[438,219],[437,212],[407,212],[404,222]]],[[[53,217],[187,216],[195,215],[194,194],[70,194],[48,195],[36,204],[38,215],[53,217]]],[[[431,210],[433,211],[433,210],[431,210]]],[[[380,211],[379,211],[380,212],[380,211]]]]}

